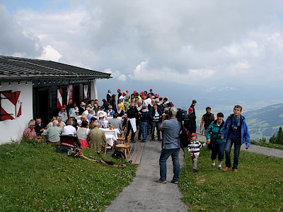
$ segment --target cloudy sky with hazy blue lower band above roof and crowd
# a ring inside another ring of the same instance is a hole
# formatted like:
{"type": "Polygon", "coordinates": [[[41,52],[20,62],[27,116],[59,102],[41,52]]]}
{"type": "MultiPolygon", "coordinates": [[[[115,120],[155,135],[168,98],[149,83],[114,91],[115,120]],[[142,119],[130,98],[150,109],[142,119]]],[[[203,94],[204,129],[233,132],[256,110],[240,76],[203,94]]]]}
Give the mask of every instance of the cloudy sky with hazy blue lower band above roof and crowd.
{"type": "Polygon", "coordinates": [[[282,0],[0,0],[0,26],[2,55],[112,73],[101,99],[117,88],[185,107],[282,98],[282,0]]]}

